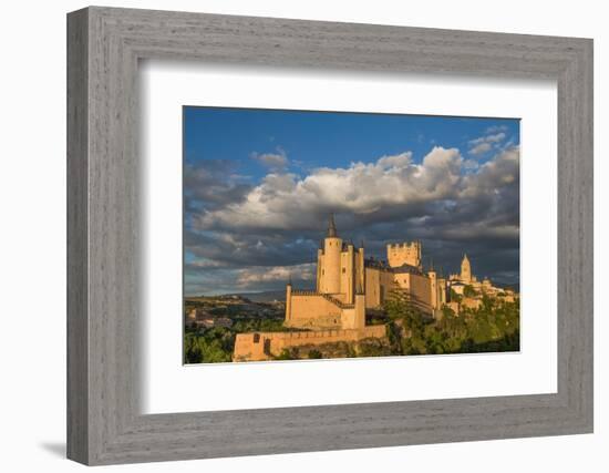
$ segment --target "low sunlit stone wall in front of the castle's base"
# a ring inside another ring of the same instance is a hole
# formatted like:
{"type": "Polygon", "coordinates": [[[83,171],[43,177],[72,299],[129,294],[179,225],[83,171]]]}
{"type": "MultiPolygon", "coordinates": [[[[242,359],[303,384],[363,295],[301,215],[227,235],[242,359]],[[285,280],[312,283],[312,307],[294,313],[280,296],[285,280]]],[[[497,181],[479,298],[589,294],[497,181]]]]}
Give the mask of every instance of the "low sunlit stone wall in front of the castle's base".
{"type": "Polygon", "coordinates": [[[235,361],[264,361],[291,347],[308,345],[352,342],[365,338],[386,336],[385,326],[370,326],[353,330],[314,330],[301,332],[256,332],[238,333],[235,339],[235,361]]]}

